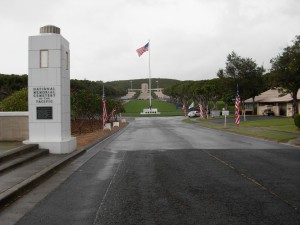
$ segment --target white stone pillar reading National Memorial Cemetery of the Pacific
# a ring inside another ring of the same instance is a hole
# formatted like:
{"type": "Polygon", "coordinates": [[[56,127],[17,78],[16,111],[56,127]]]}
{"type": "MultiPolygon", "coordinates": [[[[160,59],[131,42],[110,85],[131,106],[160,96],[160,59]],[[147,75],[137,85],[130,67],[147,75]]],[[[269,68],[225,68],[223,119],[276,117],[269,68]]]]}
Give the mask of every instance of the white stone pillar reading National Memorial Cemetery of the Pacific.
{"type": "Polygon", "coordinates": [[[50,153],[76,149],[71,137],[70,50],[60,28],[44,26],[29,37],[28,107],[29,140],[50,153]]]}

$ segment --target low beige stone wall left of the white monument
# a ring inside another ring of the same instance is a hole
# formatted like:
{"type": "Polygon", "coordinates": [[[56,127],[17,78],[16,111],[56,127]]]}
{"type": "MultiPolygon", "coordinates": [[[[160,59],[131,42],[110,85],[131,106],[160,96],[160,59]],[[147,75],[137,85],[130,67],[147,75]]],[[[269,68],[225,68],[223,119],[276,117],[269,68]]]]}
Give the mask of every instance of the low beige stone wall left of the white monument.
{"type": "Polygon", "coordinates": [[[0,112],[0,141],[24,141],[28,138],[28,112],[0,112]]]}

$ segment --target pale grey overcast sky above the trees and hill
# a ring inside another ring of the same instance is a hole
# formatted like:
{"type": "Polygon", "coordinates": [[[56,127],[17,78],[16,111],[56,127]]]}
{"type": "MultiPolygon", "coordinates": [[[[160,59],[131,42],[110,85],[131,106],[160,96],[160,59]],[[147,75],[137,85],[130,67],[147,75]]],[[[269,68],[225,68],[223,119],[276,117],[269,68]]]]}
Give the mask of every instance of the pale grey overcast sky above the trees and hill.
{"type": "Polygon", "coordinates": [[[70,42],[71,79],[216,77],[235,51],[270,68],[300,35],[299,0],[1,0],[0,73],[28,73],[28,37],[55,25],[70,42]]]}

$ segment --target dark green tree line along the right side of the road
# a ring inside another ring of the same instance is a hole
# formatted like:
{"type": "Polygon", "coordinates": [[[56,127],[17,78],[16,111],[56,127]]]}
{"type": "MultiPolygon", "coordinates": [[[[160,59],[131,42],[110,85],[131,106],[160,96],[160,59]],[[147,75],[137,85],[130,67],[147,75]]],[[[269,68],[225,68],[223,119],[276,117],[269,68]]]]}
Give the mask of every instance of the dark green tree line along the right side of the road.
{"type": "Polygon", "coordinates": [[[243,58],[233,51],[227,56],[225,68],[217,72],[218,78],[182,81],[166,88],[164,94],[182,104],[196,101],[206,106],[211,101],[216,108],[217,100],[228,104],[234,100],[237,92],[244,103],[248,98],[252,98],[254,102],[255,96],[269,88],[278,88],[291,94],[293,115],[299,113],[297,93],[300,88],[300,36],[296,36],[293,44],[270,62],[271,70],[265,73],[263,66],[258,66],[255,60],[243,58]]]}

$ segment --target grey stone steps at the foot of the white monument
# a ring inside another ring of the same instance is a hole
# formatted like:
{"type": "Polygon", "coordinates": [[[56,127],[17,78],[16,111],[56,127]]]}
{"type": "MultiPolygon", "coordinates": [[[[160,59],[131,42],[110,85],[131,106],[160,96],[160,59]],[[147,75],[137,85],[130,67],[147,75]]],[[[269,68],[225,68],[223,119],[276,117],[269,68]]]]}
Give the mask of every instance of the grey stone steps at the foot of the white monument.
{"type": "Polygon", "coordinates": [[[14,202],[53,173],[65,158],[49,154],[38,145],[24,145],[0,155],[0,210],[14,202]],[[58,166],[56,166],[58,165],[58,166]]]}

